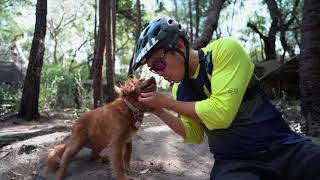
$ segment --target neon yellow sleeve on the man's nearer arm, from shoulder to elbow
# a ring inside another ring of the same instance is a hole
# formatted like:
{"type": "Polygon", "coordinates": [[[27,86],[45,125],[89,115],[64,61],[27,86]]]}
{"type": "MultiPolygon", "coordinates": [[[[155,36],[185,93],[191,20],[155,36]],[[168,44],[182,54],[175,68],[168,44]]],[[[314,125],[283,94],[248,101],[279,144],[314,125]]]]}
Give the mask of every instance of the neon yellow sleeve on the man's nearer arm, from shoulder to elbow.
{"type": "Polygon", "coordinates": [[[254,64],[243,47],[231,38],[207,46],[213,51],[211,95],[197,101],[195,110],[209,130],[228,128],[240,107],[254,64]]]}

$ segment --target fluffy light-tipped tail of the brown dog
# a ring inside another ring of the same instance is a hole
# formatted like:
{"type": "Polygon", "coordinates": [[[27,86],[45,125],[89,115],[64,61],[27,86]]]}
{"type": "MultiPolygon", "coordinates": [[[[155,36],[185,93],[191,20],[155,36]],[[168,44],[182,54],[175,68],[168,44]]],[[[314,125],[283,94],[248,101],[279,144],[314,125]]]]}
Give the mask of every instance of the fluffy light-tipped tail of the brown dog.
{"type": "Polygon", "coordinates": [[[56,144],[49,150],[47,160],[47,171],[54,173],[58,170],[61,157],[66,149],[65,144],[56,144]]]}

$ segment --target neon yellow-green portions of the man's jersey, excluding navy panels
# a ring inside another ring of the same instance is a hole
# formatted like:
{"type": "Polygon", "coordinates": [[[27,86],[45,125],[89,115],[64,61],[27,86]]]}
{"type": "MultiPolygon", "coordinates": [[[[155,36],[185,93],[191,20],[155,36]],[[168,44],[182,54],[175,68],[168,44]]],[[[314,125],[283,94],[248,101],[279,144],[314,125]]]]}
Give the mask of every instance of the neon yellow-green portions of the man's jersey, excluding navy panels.
{"type": "MultiPolygon", "coordinates": [[[[192,78],[199,82],[207,78],[210,84],[206,86],[206,83],[200,83],[206,98],[196,102],[195,110],[208,130],[225,129],[231,125],[238,112],[254,64],[244,48],[232,38],[219,39],[201,50],[205,54],[207,77],[200,77],[199,65],[192,78]]],[[[172,88],[176,100],[179,100],[179,84],[175,83],[172,88]]],[[[180,118],[186,132],[185,141],[201,143],[205,127],[185,116],[180,118]]]]}

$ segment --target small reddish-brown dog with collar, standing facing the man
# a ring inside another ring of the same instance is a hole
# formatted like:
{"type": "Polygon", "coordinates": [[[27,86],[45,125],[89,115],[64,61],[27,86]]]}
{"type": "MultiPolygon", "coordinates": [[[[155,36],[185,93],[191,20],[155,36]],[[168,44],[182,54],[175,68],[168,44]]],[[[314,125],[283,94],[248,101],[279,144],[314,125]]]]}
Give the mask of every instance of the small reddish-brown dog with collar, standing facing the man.
{"type": "Polygon", "coordinates": [[[104,148],[111,147],[112,169],[117,179],[127,180],[132,136],[142,123],[146,107],[139,104],[141,92],[156,90],[154,78],[129,79],[121,88],[121,94],[111,104],[84,113],[73,125],[65,144],[58,144],[48,153],[48,171],[56,172],[61,180],[73,157],[82,147],[92,149],[92,158],[99,159],[104,148]]]}

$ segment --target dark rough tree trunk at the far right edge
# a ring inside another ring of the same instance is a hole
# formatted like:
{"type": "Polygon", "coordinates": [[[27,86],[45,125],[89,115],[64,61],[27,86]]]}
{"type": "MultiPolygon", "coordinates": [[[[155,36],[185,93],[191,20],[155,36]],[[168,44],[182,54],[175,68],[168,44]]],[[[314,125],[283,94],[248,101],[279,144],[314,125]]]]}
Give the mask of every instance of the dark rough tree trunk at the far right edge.
{"type": "Polygon", "coordinates": [[[305,0],[302,20],[300,96],[307,135],[320,136],[320,1],[305,0]]]}

